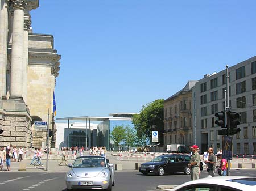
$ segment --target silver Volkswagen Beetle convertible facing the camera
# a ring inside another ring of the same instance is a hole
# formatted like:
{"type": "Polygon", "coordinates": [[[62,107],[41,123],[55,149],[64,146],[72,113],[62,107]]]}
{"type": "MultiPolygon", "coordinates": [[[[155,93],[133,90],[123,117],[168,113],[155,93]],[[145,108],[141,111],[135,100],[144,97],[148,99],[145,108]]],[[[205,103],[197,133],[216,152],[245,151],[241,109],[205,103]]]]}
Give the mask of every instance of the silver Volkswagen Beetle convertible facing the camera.
{"type": "Polygon", "coordinates": [[[113,164],[104,156],[77,157],[66,175],[68,190],[105,189],[110,191],[115,184],[113,164]]]}

